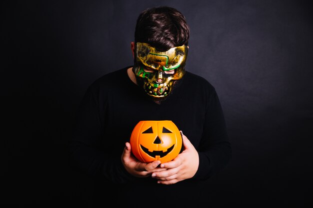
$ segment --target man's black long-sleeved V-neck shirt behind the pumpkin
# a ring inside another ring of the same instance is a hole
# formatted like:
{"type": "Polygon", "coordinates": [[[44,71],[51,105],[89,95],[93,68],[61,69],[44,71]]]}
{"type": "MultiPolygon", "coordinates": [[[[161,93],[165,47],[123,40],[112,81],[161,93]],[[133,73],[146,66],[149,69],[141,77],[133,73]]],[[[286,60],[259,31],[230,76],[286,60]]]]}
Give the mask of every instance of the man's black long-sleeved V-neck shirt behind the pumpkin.
{"type": "MultiPolygon", "coordinates": [[[[114,202],[122,205],[123,199],[139,195],[147,200],[165,193],[183,199],[186,189],[188,195],[202,196],[194,192],[205,189],[201,184],[219,172],[231,158],[231,146],[214,87],[204,78],[186,71],[172,93],[161,104],[156,104],[129,79],[129,67],[108,73],[88,87],[69,145],[70,165],[94,177],[95,195],[100,197],[99,201],[119,196],[121,200],[114,202]],[[198,170],[192,179],[174,185],[159,185],[155,179],[136,178],[126,172],[120,156],[133,127],[140,120],[171,120],[176,124],[199,155],[198,170]],[[110,194],[99,194],[105,190],[110,194]]],[[[168,204],[171,202],[166,200],[168,204]]],[[[187,204],[179,206],[184,205],[187,204]]]]}

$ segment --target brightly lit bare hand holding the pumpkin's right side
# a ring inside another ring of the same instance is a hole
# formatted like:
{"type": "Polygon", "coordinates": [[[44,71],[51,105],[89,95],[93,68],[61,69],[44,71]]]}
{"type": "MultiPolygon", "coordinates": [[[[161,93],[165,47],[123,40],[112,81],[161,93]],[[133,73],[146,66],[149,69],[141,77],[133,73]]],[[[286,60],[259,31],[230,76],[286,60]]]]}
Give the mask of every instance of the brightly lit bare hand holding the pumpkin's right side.
{"type": "Polygon", "coordinates": [[[160,165],[161,168],[166,168],[163,171],[156,171],[151,176],[157,179],[159,184],[175,184],[179,181],[192,178],[199,166],[198,152],[190,143],[188,138],[180,131],[183,141],[184,150],[178,156],[167,163],[160,165]]]}

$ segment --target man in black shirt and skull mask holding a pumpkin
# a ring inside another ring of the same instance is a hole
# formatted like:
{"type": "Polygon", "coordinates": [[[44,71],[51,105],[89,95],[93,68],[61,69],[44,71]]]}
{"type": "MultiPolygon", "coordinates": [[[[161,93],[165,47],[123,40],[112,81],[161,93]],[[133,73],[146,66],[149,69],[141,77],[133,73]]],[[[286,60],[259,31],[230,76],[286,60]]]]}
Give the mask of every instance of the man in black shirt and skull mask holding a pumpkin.
{"type": "Polygon", "coordinates": [[[131,42],[134,64],[87,89],[70,161],[94,178],[95,206],[206,207],[207,179],[228,163],[231,148],[214,87],[185,70],[188,38],[178,10],[144,10],[131,42]],[[175,159],[141,163],[131,154],[132,129],[145,120],[176,124],[183,149],[175,159]]]}

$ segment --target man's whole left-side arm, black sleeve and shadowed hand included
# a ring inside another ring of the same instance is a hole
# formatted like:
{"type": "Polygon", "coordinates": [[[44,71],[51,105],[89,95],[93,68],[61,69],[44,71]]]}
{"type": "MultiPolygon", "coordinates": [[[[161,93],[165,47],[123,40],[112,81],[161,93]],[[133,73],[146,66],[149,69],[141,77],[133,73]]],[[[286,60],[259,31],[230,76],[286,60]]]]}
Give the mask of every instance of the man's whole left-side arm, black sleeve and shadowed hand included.
{"type": "Polygon", "coordinates": [[[113,183],[125,183],[135,178],[149,177],[157,168],[159,161],[141,163],[131,155],[130,144],[126,143],[120,157],[105,155],[99,149],[100,141],[105,139],[104,124],[101,122],[97,88],[89,87],[77,111],[73,134],[69,143],[70,165],[94,177],[103,177],[113,183]]]}

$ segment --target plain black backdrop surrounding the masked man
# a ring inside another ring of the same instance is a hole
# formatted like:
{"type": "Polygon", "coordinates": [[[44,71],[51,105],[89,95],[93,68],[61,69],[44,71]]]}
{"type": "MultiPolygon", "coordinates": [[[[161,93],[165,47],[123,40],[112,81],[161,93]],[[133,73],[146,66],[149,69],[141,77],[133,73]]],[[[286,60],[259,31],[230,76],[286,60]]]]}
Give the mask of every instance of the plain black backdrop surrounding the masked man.
{"type": "Polygon", "coordinates": [[[186,69],[215,87],[224,110],[233,156],[210,179],[207,207],[312,206],[313,10],[305,0],[2,2],[2,205],[89,206],[92,181],[68,167],[75,111],[96,78],[132,64],[135,20],[158,5],[185,15],[186,69]]]}

